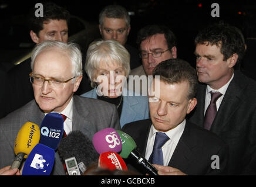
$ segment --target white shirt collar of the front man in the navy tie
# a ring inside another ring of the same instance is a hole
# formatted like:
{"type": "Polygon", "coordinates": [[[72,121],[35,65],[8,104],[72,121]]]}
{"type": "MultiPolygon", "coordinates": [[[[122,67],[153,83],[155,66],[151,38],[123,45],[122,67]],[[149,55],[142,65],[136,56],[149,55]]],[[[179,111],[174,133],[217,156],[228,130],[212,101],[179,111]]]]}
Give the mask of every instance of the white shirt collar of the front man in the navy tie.
{"type": "MultiPolygon", "coordinates": [[[[180,124],[178,124],[174,129],[171,129],[169,131],[166,131],[166,135],[170,138],[171,141],[173,141],[176,145],[178,144],[178,141],[180,140],[181,134],[183,133],[185,129],[185,124],[186,124],[186,119],[183,120],[180,124]]],[[[159,130],[156,130],[153,126],[151,125],[151,137],[153,137],[159,130]]]]}

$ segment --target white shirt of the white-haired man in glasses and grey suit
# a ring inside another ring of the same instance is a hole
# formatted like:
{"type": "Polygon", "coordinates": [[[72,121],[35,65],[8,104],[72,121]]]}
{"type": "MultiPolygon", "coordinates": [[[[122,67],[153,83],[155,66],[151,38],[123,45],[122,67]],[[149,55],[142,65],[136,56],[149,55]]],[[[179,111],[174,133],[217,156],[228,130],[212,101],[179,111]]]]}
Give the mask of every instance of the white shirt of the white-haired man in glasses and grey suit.
{"type": "MultiPolygon", "coordinates": [[[[47,113],[45,113],[45,115],[46,114],[47,113]]],[[[70,131],[72,131],[73,97],[71,98],[68,106],[62,112],[60,112],[60,114],[63,114],[67,117],[63,125],[64,125],[64,130],[65,130],[66,134],[68,135],[70,133],[70,131]]]]}

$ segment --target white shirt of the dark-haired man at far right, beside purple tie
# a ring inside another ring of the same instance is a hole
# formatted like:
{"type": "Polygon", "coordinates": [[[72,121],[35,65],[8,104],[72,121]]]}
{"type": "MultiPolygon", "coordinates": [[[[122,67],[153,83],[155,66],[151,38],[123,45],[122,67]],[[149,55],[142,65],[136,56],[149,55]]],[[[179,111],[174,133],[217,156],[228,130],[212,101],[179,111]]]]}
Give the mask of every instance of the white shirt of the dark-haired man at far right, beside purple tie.
{"type": "Polygon", "coordinates": [[[211,102],[211,91],[213,92],[220,92],[222,95],[220,96],[220,98],[217,99],[216,101],[216,108],[218,111],[218,108],[220,108],[220,104],[224,98],[225,92],[228,89],[228,86],[230,85],[230,82],[232,81],[232,79],[234,78],[234,73],[232,75],[232,77],[230,78],[230,80],[227,82],[227,84],[225,84],[224,86],[222,86],[220,89],[213,89],[211,88],[209,85],[207,85],[206,88],[206,102],[204,103],[204,115],[206,114],[206,110],[208,108],[208,106],[210,105],[211,102]]]}

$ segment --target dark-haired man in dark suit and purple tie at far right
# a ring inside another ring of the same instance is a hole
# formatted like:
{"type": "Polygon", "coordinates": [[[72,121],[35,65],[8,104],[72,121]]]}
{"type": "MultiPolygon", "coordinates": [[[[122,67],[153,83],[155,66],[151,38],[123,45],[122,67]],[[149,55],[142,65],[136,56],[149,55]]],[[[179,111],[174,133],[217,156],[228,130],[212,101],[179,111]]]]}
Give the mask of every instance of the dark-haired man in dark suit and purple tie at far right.
{"type": "Polygon", "coordinates": [[[233,28],[217,23],[201,30],[195,39],[201,84],[189,120],[228,144],[228,174],[256,174],[256,82],[234,70],[245,47],[233,28]],[[213,101],[215,94],[219,97],[213,101]]]}

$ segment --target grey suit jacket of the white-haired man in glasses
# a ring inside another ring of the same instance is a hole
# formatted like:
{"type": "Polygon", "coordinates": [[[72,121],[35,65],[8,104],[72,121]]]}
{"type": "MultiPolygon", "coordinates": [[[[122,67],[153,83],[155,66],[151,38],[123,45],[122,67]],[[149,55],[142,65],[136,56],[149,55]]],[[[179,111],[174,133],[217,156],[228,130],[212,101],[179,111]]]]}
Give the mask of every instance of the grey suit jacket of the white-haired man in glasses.
{"type": "MultiPolygon", "coordinates": [[[[43,117],[44,113],[35,100],[32,100],[0,120],[0,168],[11,165],[14,161],[14,140],[23,124],[32,122],[40,127],[43,117]]],[[[107,127],[120,129],[116,106],[99,99],[80,96],[73,96],[72,122],[72,130],[82,131],[90,140],[97,131],[107,127]]],[[[58,152],[55,153],[52,175],[65,175],[58,152]]]]}

